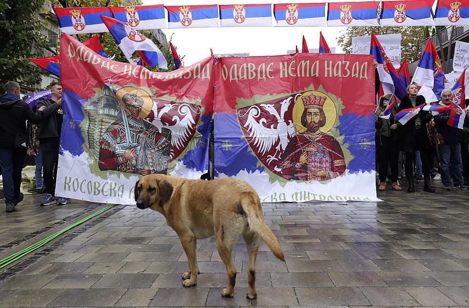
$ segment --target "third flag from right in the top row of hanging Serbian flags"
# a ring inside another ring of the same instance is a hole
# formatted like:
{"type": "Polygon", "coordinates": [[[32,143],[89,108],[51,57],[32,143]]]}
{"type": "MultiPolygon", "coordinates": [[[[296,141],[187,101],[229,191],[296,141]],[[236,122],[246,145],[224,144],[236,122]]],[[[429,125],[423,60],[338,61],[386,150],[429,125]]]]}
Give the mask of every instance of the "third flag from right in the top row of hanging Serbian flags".
{"type": "Polygon", "coordinates": [[[327,13],[328,26],[379,26],[379,1],[330,2],[327,13]]]}

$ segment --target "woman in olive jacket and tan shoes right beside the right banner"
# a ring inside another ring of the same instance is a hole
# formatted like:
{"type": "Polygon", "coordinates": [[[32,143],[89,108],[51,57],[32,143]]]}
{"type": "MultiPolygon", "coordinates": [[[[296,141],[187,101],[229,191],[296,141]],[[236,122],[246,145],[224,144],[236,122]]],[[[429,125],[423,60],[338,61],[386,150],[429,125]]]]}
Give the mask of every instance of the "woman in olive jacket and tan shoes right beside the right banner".
{"type": "Polygon", "coordinates": [[[386,176],[388,167],[391,170],[392,190],[401,190],[397,182],[398,177],[398,132],[394,115],[397,113],[397,104],[391,94],[380,98],[378,108],[376,109],[375,128],[376,128],[376,153],[378,156],[380,185],[379,191],[386,190],[386,176]]]}

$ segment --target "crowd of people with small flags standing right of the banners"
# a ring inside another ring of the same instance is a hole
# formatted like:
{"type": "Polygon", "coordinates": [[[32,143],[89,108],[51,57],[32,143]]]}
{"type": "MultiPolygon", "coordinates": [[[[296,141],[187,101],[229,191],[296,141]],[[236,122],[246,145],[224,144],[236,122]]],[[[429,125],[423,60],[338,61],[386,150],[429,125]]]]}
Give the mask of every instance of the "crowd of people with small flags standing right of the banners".
{"type": "MultiPolygon", "coordinates": [[[[465,117],[464,129],[459,129],[448,124],[449,110],[434,116],[430,111],[420,110],[402,125],[395,118],[398,112],[426,104],[425,97],[417,94],[417,85],[409,85],[406,93],[399,105],[393,105],[389,119],[381,116],[391,95],[382,96],[376,109],[378,191],[386,190],[386,178],[392,183],[392,190],[402,190],[399,180],[404,178],[403,164],[408,193],[415,192],[414,183],[422,178],[424,191],[429,193],[435,192],[432,179],[441,181],[445,190],[469,189],[469,117],[465,117]]],[[[430,102],[430,105],[448,106],[452,99],[451,90],[445,89],[441,101],[430,102]]],[[[467,115],[468,110],[465,112],[467,115]]]]}

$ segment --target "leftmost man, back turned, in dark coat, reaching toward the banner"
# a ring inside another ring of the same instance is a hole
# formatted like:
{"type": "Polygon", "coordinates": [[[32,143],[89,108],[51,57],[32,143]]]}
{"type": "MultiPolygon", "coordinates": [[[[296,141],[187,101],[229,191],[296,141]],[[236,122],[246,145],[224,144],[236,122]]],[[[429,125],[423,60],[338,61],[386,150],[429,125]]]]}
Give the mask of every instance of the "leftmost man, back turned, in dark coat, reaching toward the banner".
{"type": "MultiPolygon", "coordinates": [[[[15,148],[17,134],[26,134],[26,120],[41,123],[43,116],[48,116],[58,106],[33,110],[20,99],[20,85],[10,81],[5,84],[6,93],[0,96],[0,167],[3,176],[3,193],[6,212],[15,211],[15,206],[22,201],[20,193],[21,170],[26,149],[15,148]]],[[[27,142],[27,141],[26,141],[27,142]]]]}

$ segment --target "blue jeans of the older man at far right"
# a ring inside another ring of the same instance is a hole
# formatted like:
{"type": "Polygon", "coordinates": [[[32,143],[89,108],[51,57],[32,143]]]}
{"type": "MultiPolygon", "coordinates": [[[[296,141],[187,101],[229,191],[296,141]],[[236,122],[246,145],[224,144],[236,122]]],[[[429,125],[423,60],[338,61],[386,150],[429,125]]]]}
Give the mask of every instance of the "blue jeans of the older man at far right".
{"type": "Polygon", "coordinates": [[[445,186],[451,186],[449,170],[453,174],[454,185],[463,185],[462,162],[461,162],[461,143],[444,144],[438,147],[441,159],[441,181],[445,186]]]}

